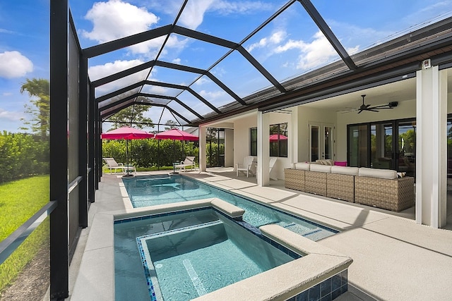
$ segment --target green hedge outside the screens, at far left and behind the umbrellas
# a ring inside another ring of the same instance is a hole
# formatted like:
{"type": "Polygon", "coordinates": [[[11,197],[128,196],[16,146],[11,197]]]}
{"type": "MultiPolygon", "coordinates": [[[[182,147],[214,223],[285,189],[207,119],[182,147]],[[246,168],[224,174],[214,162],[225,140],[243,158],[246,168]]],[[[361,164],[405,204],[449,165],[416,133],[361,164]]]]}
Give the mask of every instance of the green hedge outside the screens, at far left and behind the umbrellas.
{"type": "MultiPolygon", "coordinates": [[[[172,166],[185,156],[196,156],[199,162],[198,142],[179,140],[102,140],[102,156],[126,163],[126,145],[129,163],[137,167],[172,166]]],[[[217,145],[213,147],[216,149],[217,145]]],[[[208,165],[216,166],[215,156],[207,149],[208,165]],[[210,159],[214,160],[210,162],[210,159]]],[[[32,175],[49,174],[49,141],[25,133],[0,133],[0,183],[32,175]]]]}

